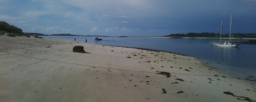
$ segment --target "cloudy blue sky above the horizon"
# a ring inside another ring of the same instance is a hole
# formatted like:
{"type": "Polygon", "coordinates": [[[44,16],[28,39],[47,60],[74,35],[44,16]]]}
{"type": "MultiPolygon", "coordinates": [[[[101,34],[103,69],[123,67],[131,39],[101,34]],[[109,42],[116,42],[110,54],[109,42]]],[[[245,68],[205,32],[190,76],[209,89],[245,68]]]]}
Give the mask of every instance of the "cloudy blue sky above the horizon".
{"type": "Polygon", "coordinates": [[[256,0],[0,0],[0,21],[23,32],[163,36],[256,33],[256,0]]]}

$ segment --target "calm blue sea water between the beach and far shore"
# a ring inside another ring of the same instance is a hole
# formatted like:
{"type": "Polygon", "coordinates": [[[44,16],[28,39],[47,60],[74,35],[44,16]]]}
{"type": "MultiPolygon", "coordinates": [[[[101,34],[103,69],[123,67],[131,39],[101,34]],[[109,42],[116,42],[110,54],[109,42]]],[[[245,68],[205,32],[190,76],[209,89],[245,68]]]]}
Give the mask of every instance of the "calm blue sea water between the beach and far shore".
{"type": "MultiPolygon", "coordinates": [[[[94,40],[94,37],[70,37],[70,36],[43,36],[59,40],[71,40],[79,42],[124,46],[133,48],[147,48],[185,54],[200,58],[205,64],[217,68],[224,74],[233,77],[256,79],[256,45],[242,44],[238,48],[223,48],[211,45],[215,39],[170,39],[150,37],[100,37],[102,41],[94,40]]],[[[246,41],[246,40],[237,40],[246,41]]]]}

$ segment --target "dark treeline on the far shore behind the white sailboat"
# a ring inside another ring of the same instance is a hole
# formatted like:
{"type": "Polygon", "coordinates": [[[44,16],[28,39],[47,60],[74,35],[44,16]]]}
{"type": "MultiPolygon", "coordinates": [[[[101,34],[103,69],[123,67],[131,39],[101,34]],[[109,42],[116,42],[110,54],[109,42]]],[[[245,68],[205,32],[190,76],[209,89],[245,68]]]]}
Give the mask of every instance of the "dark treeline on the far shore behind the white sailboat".
{"type": "MultiPolygon", "coordinates": [[[[209,32],[203,32],[203,33],[187,33],[187,34],[169,34],[165,37],[229,37],[229,34],[222,34],[219,33],[209,33],[209,32]]],[[[256,34],[242,34],[242,33],[236,33],[232,34],[231,37],[234,38],[256,38],[256,34]]]]}

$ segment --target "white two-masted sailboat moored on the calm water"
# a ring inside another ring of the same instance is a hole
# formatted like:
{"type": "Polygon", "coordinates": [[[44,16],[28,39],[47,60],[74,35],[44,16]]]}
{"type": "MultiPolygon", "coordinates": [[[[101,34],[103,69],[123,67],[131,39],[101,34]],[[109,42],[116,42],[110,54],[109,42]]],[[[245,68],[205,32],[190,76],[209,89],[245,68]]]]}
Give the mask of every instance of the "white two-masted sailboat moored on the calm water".
{"type": "MultiPolygon", "coordinates": [[[[232,14],[230,17],[230,38],[229,41],[225,41],[221,43],[221,38],[220,38],[220,42],[211,42],[214,46],[218,46],[218,47],[238,47],[240,44],[239,43],[232,43],[231,42],[231,21],[232,21],[232,14]]],[[[221,35],[222,35],[222,20],[221,20],[221,35]]]]}

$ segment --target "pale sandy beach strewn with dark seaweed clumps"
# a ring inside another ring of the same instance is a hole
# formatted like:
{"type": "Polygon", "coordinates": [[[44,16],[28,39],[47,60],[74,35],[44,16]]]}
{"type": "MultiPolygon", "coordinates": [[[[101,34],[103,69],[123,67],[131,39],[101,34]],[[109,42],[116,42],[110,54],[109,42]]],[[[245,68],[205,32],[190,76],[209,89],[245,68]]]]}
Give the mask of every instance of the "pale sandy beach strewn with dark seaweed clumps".
{"type": "Polygon", "coordinates": [[[0,45],[0,102],[256,102],[253,82],[194,57],[6,35],[0,45]]]}

